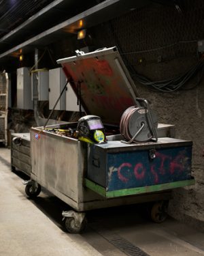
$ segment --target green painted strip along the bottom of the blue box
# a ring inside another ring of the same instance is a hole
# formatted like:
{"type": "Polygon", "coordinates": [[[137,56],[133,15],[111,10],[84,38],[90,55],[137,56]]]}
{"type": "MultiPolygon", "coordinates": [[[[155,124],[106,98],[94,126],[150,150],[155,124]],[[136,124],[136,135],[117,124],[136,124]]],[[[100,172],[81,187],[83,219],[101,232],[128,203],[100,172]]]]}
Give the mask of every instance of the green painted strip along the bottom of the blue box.
{"type": "Polygon", "coordinates": [[[167,189],[180,188],[182,186],[190,186],[190,185],[194,185],[194,183],[195,183],[194,178],[192,178],[191,180],[182,180],[178,182],[170,182],[170,183],[158,184],[153,186],[142,186],[139,188],[125,188],[125,189],[114,190],[114,191],[106,191],[105,188],[103,188],[103,186],[99,186],[95,182],[85,179],[86,187],[95,191],[97,194],[107,198],[152,193],[152,192],[157,192],[157,191],[162,191],[167,189]]]}

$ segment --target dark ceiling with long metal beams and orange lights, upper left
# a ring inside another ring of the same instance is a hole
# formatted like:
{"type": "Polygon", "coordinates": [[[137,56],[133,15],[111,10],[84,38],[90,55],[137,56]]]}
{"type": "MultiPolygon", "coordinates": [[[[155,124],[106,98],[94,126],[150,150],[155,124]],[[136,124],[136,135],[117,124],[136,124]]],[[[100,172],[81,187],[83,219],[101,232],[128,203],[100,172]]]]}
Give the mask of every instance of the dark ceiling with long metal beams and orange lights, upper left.
{"type": "Polygon", "coordinates": [[[182,1],[0,0],[0,63],[5,66],[20,53],[47,46],[143,5],[154,2],[177,8],[182,1]]]}

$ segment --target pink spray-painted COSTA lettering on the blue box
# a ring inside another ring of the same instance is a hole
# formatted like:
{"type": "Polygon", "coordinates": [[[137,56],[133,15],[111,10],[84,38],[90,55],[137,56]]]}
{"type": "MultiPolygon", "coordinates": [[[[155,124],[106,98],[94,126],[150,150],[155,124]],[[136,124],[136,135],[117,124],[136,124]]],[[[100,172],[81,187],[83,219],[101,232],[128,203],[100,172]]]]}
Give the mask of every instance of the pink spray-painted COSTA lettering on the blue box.
{"type": "MultiPolygon", "coordinates": [[[[147,175],[152,175],[154,183],[158,184],[163,175],[173,175],[173,173],[182,173],[185,167],[183,152],[180,152],[175,158],[166,154],[156,152],[156,158],[149,162],[123,162],[118,167],[118,179],[127,183],[131,179],[130,173],[136,180],[143,180],[147,175]]],[[[132,177],[132,176],[131,176],[132,177]]]]}

